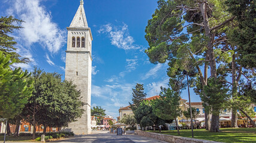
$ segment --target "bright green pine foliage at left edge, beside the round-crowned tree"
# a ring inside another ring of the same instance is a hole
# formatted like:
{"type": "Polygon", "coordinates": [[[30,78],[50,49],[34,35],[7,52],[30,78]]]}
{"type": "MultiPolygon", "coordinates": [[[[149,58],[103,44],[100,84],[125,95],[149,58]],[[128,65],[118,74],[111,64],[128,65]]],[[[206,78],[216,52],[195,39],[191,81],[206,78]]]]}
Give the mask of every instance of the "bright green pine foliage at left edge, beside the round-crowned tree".
{"type": "Polygon", "coordinates": [[[5,119],[21,113],[33,90],[33,81],[29,79],[31,74],[20,68],[11,70],[10,65],[15,60],[10,63],[10,59],[11,55],[0,51],[0,117],[5,119]]]}

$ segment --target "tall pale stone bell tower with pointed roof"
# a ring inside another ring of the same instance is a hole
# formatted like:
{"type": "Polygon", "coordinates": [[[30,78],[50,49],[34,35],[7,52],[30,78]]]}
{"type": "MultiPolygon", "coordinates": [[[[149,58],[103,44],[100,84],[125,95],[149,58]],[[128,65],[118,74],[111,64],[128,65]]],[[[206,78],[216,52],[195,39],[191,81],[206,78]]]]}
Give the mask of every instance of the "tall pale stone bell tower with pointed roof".
{"type": "Polygon", "coordinates": [[[67,29],[65,80],[73,80],[81,91],[85,112],[64,130],[86,135],[91,133],[92,32],[86,20],[83,0],[67,29]]]}

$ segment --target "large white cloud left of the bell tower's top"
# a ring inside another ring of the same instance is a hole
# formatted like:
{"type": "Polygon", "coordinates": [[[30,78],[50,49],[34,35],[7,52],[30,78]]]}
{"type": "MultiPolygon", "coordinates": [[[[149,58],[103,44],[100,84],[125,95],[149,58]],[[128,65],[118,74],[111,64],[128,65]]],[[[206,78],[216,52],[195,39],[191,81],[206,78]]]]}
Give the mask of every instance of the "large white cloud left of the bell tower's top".
{"type": "Polygon", "coordinates": [[[17,15],[25,21],[20,29],[23,43],[30,46],[32,43],[40,43],[51,53],[56,53],[62,48],[65,41],[65,30],[61,30],[58,24],[53,23],[50,12],[40,5],[40,0],[16,0],[7,13],[17,15]]]}

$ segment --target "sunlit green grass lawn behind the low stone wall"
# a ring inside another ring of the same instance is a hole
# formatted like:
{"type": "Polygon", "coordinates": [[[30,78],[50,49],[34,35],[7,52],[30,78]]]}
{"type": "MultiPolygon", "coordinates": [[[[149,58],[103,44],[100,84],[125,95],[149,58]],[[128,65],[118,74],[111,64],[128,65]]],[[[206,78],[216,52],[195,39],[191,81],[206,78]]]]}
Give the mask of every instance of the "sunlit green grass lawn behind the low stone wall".
{"type": "MultiPolygon", "coordinates": [[[[177,134],[177,130],[162,130],[162,132],[149,130],[147,132],[192,138],[191,130],[180,130],[180,135],[177,134]]],[[[256,128],[221,128],[219,133],[208,132],[205,129],[194,129],[194,138],[218,142],[256,142],[256,128]]]]}

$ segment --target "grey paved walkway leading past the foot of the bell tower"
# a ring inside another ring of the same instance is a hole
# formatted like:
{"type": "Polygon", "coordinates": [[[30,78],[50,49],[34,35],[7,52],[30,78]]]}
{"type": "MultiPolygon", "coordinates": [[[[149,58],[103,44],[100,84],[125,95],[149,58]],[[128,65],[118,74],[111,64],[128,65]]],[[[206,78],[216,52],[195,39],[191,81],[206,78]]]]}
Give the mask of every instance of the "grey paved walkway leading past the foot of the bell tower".
{"type": "MultiPolygon", "coordinates": [[[[166,143],[164,141],[159,141],[157,139],[153,138],[146,138],[144,136],[138,136],[138,135],[116,135],[110,134],[108,132],[104,131],[97,131],[92,132],[90,135],[84,135],[84,136],[76,136],[75,138],[67,138],[63,140],[53,141],[53,142],[60,142],[60,143],[71,143],[71,142],[88,142],[88,143],[141,143],[141,142],[161,142],[166,143]]],[[[8,142],[7,143],[14,143],[14,142],[8,142]]],[[[15,142],[18,143],[18,142],[15,142]]],[[[19,142],[20,143],[20,142],[19,142]]],[[[23,143],[31,143],[31,142],[23,142],[23,143]]]]}

